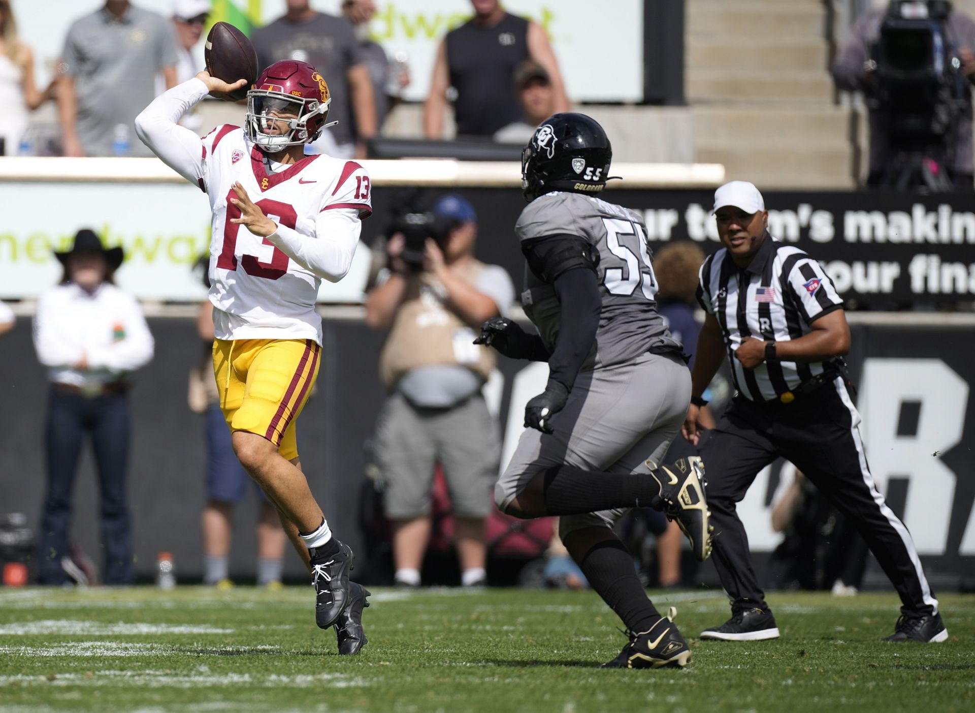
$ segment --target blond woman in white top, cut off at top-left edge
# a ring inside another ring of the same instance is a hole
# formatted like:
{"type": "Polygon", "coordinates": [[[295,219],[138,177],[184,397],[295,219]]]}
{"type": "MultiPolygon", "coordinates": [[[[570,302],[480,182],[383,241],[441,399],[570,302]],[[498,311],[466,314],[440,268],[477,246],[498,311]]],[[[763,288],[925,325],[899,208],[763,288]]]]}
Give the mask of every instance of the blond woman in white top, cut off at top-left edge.
{"type": "Polygon", "coordinates": [[[0,0],[0,156],[16,156],[27,133],[27,114],[54,97],[54,82],[34,84],[34,55],[17,34],[10,0],[0,0]]]}

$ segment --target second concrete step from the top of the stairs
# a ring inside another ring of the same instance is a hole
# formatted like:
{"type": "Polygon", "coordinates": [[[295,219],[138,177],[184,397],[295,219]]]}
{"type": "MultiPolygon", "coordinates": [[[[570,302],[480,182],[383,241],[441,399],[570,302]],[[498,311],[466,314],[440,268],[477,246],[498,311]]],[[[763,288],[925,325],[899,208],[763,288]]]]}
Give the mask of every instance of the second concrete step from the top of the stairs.
{"type": "Polygon", "coordinates": [[[778,71],[824,71],[828,48],[822,39],[759,43],[743,48],[726,37],[695,37],[687,42],[688,69],[735,69],[778,71]]]}

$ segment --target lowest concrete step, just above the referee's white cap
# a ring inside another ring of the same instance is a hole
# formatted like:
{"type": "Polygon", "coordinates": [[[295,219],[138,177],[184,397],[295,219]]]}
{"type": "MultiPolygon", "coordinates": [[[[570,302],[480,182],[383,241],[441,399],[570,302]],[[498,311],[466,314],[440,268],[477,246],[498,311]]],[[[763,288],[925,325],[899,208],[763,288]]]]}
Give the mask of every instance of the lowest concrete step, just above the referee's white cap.
{"type": "Polygon", "coordinates": [[[854,184],[849,146],[698,145],[695,159],[723,164],[725,180],[751,180],[760,190],[851,188],[854,184]]]}

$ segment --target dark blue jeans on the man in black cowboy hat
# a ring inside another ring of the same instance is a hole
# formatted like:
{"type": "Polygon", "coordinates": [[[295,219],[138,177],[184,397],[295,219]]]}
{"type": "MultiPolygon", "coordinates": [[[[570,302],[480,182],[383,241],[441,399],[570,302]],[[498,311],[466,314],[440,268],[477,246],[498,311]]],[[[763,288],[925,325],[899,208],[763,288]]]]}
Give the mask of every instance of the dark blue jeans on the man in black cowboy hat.
{"type": "Polygon", "coordinates": [[[87,398],[52,388],[45,436],[48,482],[38,539],[38,583],[68,580],[61,558],[71,556],[72,495],[78,456],[86,434],[98,469],[101,545],[105,584],[130,584],[135,571],[126,478],[129,460],[129,400],[125,394],[87,398]]]}

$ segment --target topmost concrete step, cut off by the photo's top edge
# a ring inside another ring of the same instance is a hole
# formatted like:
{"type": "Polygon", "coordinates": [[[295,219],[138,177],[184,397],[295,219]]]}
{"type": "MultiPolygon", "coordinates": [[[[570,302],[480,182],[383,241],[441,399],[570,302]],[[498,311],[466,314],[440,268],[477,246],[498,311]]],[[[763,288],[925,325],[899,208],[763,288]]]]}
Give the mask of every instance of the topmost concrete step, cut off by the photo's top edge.
{"type": "Polygon", "coordinates": [[[763,40],[822,38],[826,17],[818,3],[696,0],[687,6],[686,22],[688,44],[698,36],[732,38],[748,51],[763,40]]]}

